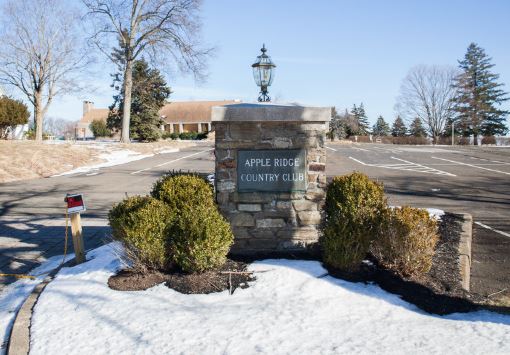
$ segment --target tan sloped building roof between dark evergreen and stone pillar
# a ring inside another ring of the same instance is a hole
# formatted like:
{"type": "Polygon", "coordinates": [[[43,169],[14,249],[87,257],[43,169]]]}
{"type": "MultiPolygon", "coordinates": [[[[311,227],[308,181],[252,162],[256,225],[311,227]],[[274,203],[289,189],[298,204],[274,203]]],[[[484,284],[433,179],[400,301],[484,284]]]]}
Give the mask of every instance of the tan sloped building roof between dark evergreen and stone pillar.
{"type": "Polygon", "coordinates": [[[213,106],[223,106],[238,103],[234,100],[224,101],[176,101],[170,102],[159,110],[160,116],[168,123],[199,123],[211,122],[211,109],[213,106]]]}

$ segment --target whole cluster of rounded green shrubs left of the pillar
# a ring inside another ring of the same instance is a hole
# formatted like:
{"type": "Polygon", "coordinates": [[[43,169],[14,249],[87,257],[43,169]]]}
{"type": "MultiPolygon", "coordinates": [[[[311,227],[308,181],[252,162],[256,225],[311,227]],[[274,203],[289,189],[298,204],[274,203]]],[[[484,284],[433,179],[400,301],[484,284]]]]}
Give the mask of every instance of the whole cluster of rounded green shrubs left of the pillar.
{"type": "Polygon", "coordinates": [[[234,236],[205,178],[170,172],[151,194],[127,198],[108,215],[113,237],[122,241],[128,258],[142,269],[177,266],[185,272],[203,272],[225,262],[234,236]]]}

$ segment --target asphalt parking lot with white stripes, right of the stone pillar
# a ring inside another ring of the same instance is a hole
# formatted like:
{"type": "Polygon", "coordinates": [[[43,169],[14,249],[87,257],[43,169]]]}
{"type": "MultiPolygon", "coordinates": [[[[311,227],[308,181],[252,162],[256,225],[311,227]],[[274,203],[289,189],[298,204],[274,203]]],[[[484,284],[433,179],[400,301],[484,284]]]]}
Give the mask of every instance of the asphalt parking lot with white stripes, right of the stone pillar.
{"type": "Polygon", "coordinates": [[[355,170],[391,205],[473,215],[471,290],[510,295],[510,148],[327,144],[329,177],[355,170]]]}

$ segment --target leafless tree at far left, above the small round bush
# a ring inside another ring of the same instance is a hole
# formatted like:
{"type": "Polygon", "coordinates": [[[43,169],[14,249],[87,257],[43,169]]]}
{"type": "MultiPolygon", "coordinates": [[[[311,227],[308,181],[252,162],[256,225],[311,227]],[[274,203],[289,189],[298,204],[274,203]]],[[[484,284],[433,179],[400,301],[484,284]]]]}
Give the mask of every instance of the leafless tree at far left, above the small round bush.
{"type": "Polygon", "coordinates": [[[36,140],[53,99],[79,88],[87,64],[78,13],[63,0],[8,0],[0,24],[0,82],[33,105],[36,140]]]}

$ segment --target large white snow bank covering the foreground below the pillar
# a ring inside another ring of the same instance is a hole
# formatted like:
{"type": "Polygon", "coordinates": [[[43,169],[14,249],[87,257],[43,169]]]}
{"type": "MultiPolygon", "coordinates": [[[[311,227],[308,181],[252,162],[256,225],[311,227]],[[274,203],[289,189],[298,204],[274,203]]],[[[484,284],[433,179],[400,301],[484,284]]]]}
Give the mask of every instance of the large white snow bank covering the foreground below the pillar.
{"type": "Polygon", "coordinates": [[[319,277],[315,261],[257,262],[248,289],[183,295],[109,289],[115,255],[98,248],[46,287],[31,354],[510,353],[510,316],[430,315],[378,286],[319,277]]]}

